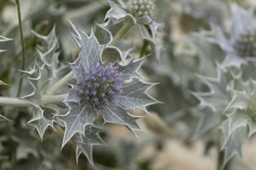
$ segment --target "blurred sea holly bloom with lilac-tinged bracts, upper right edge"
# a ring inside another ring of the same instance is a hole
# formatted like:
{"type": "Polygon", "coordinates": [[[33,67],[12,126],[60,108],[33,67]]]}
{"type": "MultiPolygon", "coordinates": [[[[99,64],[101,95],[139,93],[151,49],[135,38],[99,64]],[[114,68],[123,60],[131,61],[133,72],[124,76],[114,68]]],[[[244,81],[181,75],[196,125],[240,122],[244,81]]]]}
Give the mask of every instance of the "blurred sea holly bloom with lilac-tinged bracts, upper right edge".
{"type": "MultiPolygon", "coordinates": [[[[248,61],[255,61],[255,15],[254,9],[248,11],[231,3],[232,21],[230,28],[225,31],[212,25],[212,32],[203,36],[210,42],[218,44],[227,54],[222,65],[240,67],[248,61]]],[[[202,33],[200,33],[202,35],[202,33]]]]}

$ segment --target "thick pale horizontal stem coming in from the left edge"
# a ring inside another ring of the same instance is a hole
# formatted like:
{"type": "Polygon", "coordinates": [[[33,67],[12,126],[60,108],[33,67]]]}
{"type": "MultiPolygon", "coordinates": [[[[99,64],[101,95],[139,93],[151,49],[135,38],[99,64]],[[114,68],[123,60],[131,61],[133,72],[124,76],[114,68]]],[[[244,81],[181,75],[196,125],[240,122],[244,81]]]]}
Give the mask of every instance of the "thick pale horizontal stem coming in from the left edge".
{"type": "MultiPolygon", "coordinates": [[[[57,103],[63,101],[67,94],[62,95],[42,95],[41,103],[46,105],[49,103],[57,103]]],[[[16,97],[0,97],[0,105],[13,106],[13,107],[29,107],[32,106],[30,103],[23,101],[16,97]]]]}

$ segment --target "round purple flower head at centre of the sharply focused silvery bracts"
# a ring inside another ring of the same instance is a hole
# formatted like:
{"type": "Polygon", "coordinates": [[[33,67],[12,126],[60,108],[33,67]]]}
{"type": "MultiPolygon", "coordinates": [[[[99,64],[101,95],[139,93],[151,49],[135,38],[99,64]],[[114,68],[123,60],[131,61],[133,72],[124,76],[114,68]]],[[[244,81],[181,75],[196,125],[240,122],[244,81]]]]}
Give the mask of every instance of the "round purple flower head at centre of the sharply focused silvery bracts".
{"type": "Polygon", "coordinates": [[[86,75],[80,83],[81,100],[86,100],[92,107],[102,109],[112,105],[115,98],[122,93],[123,81],[117,67],[100,65],[86,75]],[[93,79],[92,79],[93,78],[93,79]]]}

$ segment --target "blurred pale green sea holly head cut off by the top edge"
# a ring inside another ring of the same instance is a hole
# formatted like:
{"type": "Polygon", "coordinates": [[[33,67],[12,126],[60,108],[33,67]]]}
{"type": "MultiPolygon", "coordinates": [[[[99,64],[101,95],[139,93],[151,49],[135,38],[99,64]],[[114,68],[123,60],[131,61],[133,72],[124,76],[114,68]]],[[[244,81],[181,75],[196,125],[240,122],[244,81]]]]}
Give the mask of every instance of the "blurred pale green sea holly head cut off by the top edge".
{"type": "MultiPolygon", "coordinates": [[[[112,44],[117,45],[135,27],[139,29],[140,37],[145,40],[142,50],[151,46],[152,55],[160,60],[160,42],[156,38],[161,24],[155,21],[156,5],[154,0],[129,0],[129,1],[109,1],[111,8],[106,13],[105,19],[108,22],[103,24],[109,30],[116,30],[120,23],[125,23],[118,32],[115,32],[112,44]]],[[[119,45],[121,46],[121,45],[119,45]]],[[[143,51],[141,51],[143,54],[143,51]]]]}

